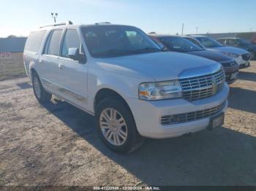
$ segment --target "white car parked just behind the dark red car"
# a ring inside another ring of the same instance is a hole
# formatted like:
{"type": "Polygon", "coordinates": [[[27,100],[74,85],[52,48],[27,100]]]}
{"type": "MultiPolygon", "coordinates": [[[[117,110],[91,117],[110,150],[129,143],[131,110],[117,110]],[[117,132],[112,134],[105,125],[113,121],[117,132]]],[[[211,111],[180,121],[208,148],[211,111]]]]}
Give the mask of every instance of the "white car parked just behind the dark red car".
{"type": "Polygon", "coordinates": [[[240,68],[246,68],[250,66],[251,55],[248,51],[237,47],[224,47],[208,36],[190,35],[186,37],[189,41],[197,44],[198,46],[211,51],[222,52],[223,54],[234,58],[240,68]]]}

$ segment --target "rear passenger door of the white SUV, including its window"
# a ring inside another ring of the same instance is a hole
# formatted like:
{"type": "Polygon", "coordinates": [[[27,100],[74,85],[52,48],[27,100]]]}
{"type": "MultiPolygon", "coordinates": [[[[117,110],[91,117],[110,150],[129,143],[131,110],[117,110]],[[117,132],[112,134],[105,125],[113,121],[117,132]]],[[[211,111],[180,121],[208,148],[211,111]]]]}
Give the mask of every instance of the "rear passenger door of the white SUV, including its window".
{"type": "Polygon", "coordinates": [[[51,92],[59,95],[61,95],[61,69],[59,66],[59,52],[63,31],[63,29],[54,29],[50,32],[45,43],[42,56],[39,59],[39,65],[41,65],[40,68],[42,71],[42,85],[51,92]]]}

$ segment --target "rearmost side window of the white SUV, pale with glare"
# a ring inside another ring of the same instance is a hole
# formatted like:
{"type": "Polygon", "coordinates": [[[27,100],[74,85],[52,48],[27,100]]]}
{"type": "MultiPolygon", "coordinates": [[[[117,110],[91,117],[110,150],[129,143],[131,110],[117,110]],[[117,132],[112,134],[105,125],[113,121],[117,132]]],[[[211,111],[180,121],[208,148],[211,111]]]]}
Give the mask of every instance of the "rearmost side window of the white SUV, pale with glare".
{"type": "Polygon", "coordinates": [[[39,48],[41,47],[41,44],[42,44],[42,39],[45,36],[45,33],[46,31],[31,32],[29,34],[28,39],[26,40],[26,45],[24,50],[38,53],[39,48]]]}

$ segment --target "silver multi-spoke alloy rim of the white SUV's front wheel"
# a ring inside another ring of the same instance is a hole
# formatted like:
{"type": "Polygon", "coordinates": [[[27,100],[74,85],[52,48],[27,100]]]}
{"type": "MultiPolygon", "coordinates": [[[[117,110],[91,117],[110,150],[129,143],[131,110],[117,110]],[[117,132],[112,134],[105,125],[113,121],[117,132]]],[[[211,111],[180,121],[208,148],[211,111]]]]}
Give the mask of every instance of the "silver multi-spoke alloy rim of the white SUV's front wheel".
{"type": "Polygon", "coordinates": [[[127,140],[127,123],[116,109],[103,110],[99,117],[99,125],[103,136],[110,144],[121,146],[127,140]]]}

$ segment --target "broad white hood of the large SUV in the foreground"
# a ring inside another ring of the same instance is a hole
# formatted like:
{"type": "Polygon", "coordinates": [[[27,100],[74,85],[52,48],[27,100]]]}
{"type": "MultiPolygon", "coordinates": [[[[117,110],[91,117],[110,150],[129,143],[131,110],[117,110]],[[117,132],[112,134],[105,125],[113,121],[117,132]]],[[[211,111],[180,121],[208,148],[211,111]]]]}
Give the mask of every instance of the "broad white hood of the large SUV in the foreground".
{"type": "Polygon", "coordinates": [[[132,77],[151,77],[155,81],[200,76],[215,72],[222,67],[219,63],[206,58],[179,52],[100,58],[97,59],[96,66],[99,69],[132,77]]]}

